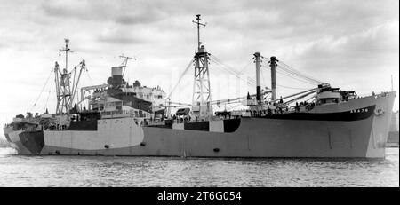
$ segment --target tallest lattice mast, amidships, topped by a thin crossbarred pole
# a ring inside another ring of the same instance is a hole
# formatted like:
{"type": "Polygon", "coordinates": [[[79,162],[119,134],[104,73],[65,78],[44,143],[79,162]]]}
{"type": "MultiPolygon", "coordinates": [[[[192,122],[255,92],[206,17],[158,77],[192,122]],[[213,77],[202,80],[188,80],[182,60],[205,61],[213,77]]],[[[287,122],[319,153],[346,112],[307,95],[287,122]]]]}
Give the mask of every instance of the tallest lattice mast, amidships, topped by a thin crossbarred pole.
{"type": "Polygon", "coordinates": [[[196,119],[206,119],[212,116],[212,96],[210,88],[210,74],[208,72],[209,53],[205,51],[204,45],[200,41],[200,14],[196,15],[197,24],[197,52],[195,55],[195,83],[193,84],[192,111],[196,119]]]}

